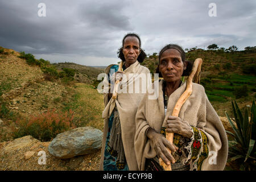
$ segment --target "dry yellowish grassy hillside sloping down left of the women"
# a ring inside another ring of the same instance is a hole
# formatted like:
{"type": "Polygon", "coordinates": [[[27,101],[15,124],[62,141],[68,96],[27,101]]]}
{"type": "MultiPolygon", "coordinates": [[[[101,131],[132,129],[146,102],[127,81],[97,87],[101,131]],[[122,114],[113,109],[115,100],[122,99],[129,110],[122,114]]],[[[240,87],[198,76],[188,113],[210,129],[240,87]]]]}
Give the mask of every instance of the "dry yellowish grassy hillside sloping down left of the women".
{"type": "Polygon", "coordinates": [[[73,63],[57,65],[70,68],[64,72],[47,61],[35,60],[32,55],[0,49],[3,50],[0,53],[0,118],[3,121],[0,142],[15,137],[13,131],[20,127],[16,123],[18,118],[26,121],[53,109],[59,114],[71,109],[72,123],[76,127],[92,126],[103,130],[103,96],[90,85],[101,69],[73,63]],[[72,68],[88,75],[90,81],[77,82],[76,75],[71,74],[72,68]]]}

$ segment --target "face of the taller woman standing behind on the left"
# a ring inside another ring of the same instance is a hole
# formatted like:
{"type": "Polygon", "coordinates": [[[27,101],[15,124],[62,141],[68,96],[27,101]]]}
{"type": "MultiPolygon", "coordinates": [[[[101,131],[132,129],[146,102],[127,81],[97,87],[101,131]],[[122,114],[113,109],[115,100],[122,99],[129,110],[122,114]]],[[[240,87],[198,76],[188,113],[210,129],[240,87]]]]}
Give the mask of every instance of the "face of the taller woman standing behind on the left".
{"type": "Polygon", "coordinates": [[[139,47],[139,39],[135,36],[127,36],[123,42],[123,55],[127,64],[133,64],[137,60],[141,49],[139,47]]]}

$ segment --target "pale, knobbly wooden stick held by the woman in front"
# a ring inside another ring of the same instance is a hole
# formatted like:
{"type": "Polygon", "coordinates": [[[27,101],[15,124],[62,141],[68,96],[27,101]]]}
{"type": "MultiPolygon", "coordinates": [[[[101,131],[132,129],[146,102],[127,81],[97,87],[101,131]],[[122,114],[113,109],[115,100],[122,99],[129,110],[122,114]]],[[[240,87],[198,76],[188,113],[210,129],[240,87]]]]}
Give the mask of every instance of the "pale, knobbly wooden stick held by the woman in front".
{"type": "MultiPolygon", "coordinates": [[[[200,84],[200,72],[201,72],[201,65],[203,63],[203,60],[201,58],[197,58],[193,64],[192,71],[190,75],[187,78],[187,85],[184,93],[180,96],[179,100],[177,100],[177,103],[174,107],[174,110],[172,111],[172,115],[178,117],[180,113],[181,106],[184,104],[184,102],[187,100],[187,98],[192,93],[192,81],[193,77],[195,77],[195,82],[200,84]]],[[[166,133],[166,139],[169,142],[173,142],[174,139],[174,133],[166,133]]],[[[167,148],[168,151],[171,153],[171,150],[167,148]]],[[[163,160],[160,158],[159,163],[161,166],[163,166],[165,171],[171,171],[171,164],[166,165],[166,163],[163,162],[163,160]]]]}

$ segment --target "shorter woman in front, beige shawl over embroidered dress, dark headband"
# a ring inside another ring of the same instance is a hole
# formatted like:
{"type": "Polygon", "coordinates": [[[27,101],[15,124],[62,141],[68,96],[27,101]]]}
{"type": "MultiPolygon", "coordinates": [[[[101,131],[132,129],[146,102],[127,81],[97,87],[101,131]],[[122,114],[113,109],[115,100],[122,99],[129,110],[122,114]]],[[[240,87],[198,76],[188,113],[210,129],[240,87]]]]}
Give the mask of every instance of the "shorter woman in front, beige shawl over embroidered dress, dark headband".
{"type": "Polygon", "coordinates": [[[139,170],[163,170],[159,158],[172,170],[223,170],[228,157],[228,139],[204,87],[192,84],[192,93],[179,117],[171,115],[186,88],[192,64],[180,46],[168,44],[159,53],[156,72],[163,80],[154,83],[158,98],[145,94],[136,115],[135,152],[139,170]],[[157,88],[156,83],[159,83],[157,88]],[[164,135],[174,133],[170,143],[164,135]],[[172,151],[168,152],[167,148],[172,151]]]}

